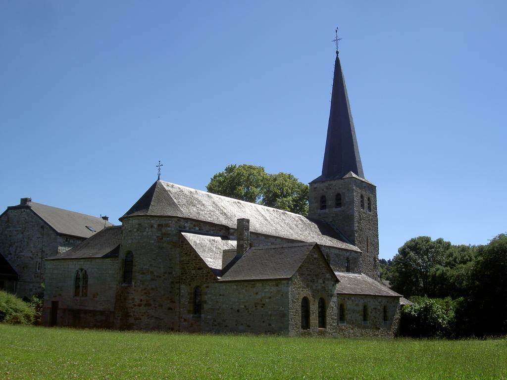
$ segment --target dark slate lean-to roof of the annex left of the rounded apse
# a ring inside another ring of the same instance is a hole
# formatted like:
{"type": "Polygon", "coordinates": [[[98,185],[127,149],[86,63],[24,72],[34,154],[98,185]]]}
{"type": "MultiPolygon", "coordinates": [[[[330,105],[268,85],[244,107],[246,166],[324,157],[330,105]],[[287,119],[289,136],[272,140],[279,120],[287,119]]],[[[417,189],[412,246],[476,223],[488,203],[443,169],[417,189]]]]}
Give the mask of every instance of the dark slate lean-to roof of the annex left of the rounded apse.
{"type": "Polygon", "coordinates": [[[118,257],[121,237],[121,225],[105,227],[105,229],[82,241],[76,247],[57,256],[48,257],[46,260],[118,257]]]}

